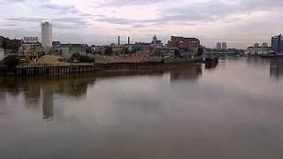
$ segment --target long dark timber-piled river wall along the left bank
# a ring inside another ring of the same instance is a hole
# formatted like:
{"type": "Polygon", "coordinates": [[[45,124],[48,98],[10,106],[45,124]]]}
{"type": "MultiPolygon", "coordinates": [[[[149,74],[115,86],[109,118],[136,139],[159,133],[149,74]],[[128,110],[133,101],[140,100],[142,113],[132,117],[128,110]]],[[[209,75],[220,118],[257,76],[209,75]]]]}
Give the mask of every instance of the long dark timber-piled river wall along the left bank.
{"type": "Polygon", "coordinates": [[[82,72],[132,72],[149,71],[160,68],[170,68],[176,64],[202,64],[203,58],[187,58],[180,60],[173,58],[170,62],[145,62],[145,63],[110,63],[110,64],[20,64],[14,68],[0,67],[0,76],[39,76],[46,74],[69,74],[82,72]],[[175,59],[175,61],[174,61],[175,59]]]}

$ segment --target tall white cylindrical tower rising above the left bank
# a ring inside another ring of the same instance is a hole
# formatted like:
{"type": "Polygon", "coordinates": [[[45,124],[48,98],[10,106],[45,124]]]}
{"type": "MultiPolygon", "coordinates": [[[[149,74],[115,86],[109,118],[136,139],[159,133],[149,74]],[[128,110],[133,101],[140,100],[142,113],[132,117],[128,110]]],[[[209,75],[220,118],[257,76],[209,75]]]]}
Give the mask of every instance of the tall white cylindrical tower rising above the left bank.
{"type": "Polygon", "coordinates": [[[48,52],[52,48],[52,25],[45,21],[42,23],[42,49],[48,52]]]}

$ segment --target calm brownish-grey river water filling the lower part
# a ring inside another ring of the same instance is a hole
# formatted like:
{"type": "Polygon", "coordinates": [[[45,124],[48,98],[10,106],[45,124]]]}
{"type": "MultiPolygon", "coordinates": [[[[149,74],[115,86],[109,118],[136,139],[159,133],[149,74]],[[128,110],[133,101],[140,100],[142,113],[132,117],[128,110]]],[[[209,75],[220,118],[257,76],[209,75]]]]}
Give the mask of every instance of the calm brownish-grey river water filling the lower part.
{"type": "Polygon", "coordinates": [[[2,159],[281,159],[283,61],[0,79],[2,159]]]}

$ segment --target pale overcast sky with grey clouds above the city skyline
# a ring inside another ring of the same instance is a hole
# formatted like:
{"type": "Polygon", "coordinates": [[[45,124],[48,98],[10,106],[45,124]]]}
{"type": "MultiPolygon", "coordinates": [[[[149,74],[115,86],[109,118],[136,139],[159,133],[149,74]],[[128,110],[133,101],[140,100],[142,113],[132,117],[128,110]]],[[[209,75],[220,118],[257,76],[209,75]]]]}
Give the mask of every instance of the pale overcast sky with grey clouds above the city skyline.
{"type": "Polygon", "coordinates": [[[0,35],[40,37],[40,21],[53,24],[53,40],[88,44],[166,43],[171,35],[197,37],[207,47],[227,42],[246,49],[268,42],[283,27],[283,0],[0,0],[0,35]]]}

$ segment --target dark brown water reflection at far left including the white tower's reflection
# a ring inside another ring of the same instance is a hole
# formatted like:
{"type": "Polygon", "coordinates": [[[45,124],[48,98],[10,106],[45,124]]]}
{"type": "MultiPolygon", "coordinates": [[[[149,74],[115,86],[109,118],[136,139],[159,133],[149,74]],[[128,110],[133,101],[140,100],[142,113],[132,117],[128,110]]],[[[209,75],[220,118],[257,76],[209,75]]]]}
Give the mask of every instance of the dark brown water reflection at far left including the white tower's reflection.
{"type": "Polygon", "coordinates": [[[96,78],[91,74],[80,74],[0,80],[0,100],[5,94],[22,94],[27,108],[35,109],[42,105],[42,118],[50,120],[54,115],[54,94],[80,99],[87,94],[88,85],[93,85],[96,78]]]}

